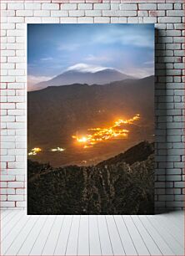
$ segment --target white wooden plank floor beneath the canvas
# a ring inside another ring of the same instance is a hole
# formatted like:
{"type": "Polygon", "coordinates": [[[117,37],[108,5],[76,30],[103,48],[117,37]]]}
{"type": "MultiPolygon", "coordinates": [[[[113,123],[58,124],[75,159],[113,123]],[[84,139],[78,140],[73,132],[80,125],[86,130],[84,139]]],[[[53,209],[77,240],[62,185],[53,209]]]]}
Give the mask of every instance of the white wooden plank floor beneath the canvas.
{"type": "Polygon", "coordinates": [[[184,255],[183,218],[2,211],[0,255],[184,255]]]}

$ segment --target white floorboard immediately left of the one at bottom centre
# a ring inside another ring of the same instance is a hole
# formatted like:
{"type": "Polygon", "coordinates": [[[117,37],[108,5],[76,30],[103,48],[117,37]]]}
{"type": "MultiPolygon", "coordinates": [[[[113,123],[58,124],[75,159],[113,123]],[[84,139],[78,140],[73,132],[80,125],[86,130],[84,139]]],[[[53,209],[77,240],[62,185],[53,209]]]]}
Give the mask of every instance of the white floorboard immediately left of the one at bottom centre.
{"type": "Polygon", "coordinates": [[[89,255],[89,233],[87,215],[82,215],[80,218],[77,255],[89,255]]]}

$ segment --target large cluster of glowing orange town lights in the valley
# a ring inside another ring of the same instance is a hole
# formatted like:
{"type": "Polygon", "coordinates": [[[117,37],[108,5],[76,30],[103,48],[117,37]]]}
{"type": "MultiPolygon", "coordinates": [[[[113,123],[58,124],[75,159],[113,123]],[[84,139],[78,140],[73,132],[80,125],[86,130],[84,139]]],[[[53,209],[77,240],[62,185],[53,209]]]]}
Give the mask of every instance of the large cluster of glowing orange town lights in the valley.
{"type": "Polygon", "coordinates": [[[87,129],[89,133],[86,136],[72,136],[73,139],[82,145],[83,148],[92,147],[98,142],[112,140],[116,137],[128,137],[128,130],[122,129],[119,126],[124,124],[133,124],[134,121],[139,120],[140,115],[134,115],[133,118],[128,120],[119,119],[113,123],[112,126],[108,128],[90,128],[87,129]]]}

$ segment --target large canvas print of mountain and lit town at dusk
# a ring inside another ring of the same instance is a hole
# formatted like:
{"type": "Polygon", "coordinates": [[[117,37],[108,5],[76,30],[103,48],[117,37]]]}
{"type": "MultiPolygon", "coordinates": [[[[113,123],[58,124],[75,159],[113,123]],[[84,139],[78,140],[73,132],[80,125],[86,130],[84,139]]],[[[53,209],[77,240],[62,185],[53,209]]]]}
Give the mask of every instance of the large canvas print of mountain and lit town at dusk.
{"type": "Polygon", "coordinates": [[[28,24],[28,214],[153,206],[153,24],[28,24]]]}

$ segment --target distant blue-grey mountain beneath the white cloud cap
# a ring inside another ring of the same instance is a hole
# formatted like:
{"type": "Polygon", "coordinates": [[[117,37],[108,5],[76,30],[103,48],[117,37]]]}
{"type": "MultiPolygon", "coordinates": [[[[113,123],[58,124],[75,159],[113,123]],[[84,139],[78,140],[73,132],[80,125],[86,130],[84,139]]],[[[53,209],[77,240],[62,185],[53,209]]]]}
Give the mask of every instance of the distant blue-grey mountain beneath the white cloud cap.
{"type": "Polygon", "coordinates": [[[103,69],[97,72],[82,72],[78,70],[68,70],[57,75],[53,79],[44,81],[33,86],[34,90],[41,90],[48,86],[58,86],[67,84],[107,84],[113,81],[132,79],[127,74],[122,74],[116,69],[103,69]]]}

